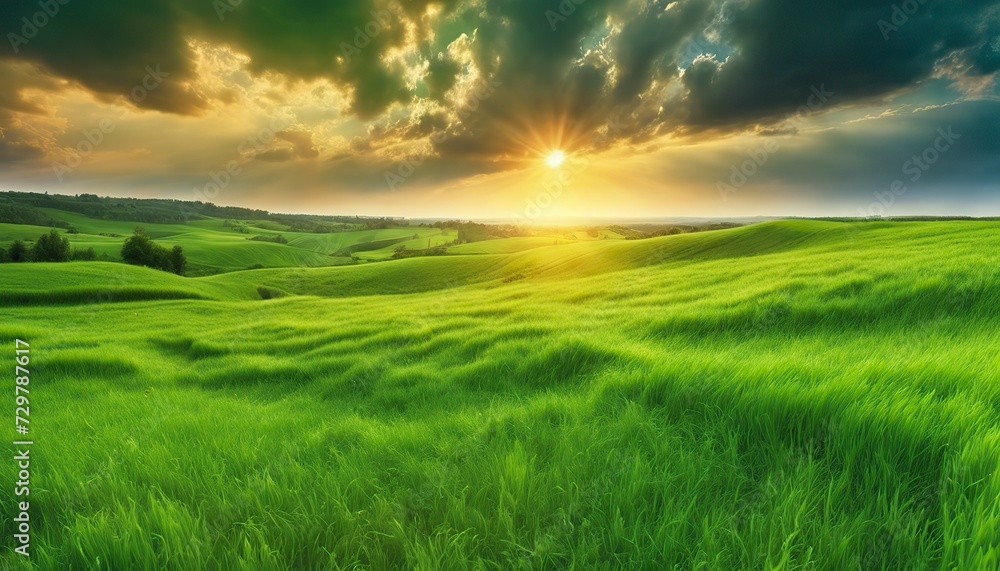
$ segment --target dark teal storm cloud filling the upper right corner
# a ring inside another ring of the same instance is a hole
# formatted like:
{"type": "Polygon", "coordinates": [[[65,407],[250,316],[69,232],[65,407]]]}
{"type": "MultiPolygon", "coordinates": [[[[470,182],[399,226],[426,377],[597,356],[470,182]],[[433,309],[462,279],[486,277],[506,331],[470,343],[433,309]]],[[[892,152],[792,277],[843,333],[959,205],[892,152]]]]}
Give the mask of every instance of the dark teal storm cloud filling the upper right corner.
{"type": "Polygon", "coordinates": [[[689,70],[690,91],[671,120],[702,129],[769,123],[824,86],[836,106],[870,101],[913,87],[953,53],[975,58],[986,49],[974,73],[987,73],[997,6],[995,0],[747,3],[720,28],[735,53],[689,70]]]}

